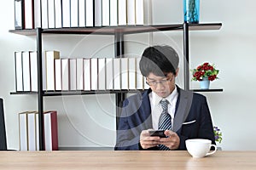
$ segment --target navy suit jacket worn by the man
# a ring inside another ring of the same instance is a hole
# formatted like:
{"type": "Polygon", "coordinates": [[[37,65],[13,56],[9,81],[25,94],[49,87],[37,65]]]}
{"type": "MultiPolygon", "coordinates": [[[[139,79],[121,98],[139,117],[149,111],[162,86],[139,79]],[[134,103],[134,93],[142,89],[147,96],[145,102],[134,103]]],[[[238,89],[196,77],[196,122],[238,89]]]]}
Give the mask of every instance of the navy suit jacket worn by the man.
{"type": "MultiPolygon", "coordinates": [[[[139,141],[143,130],[153,128],[148,94],[135,94],[123,102],[114,150],[143,150],[139,141]]],[[[186,139],[210,139],[215,144],[212,118],[207,99],[201,94],[177,87],[178,98],[172,130],[180,138],[178,150],[186,150],[186,139]]],[[[149,150],[158,150],[157,147],[149,150]]]]}

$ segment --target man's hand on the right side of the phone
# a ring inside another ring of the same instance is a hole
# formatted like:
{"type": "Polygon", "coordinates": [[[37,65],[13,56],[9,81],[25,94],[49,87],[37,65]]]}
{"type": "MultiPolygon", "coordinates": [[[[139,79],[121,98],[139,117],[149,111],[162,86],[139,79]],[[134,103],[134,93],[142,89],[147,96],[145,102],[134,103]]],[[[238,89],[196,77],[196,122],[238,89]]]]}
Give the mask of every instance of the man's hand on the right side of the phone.
{"type": "Polygon", "coordinates": [[[171,130],[166,130],[165,134],[168,136],[168,138],[160,138],[159,144],[164,144],[171,150],[176,150],[180,143],[177,133],[174,133],[171,130]]]}

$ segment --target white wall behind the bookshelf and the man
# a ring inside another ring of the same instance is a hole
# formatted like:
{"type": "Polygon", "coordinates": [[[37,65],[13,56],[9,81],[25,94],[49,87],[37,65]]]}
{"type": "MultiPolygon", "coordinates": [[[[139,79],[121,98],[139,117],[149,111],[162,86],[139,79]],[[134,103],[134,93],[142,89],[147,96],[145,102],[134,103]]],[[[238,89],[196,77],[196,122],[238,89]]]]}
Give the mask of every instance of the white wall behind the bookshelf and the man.
{"type": "MultiPolygon", "coordinates": [[[[154,24],[183,22],[183,1],[153,0],[154,24]]],[[[256,61],[253,16],[256,3],[244,0],[201,1],[201,23],[222,22],[219,31],[190,32],[190,66],[209,61],[218,66],[219,80],[212,88],[224,88],[222,93],[203,93],[207,96],[214,125],[223,132],[223,150],[256,150],[254,120],[253,74],[256,61]]],[[[9,149],[18,149],[18,116],[20,111],[37,110],[36,95],[10,95],[15,90],[14,51],[35,50],[35,37],[9,33],[14,29],[14,2],[0,6],[0,97],[4,99],[5,121],[9,149]]],[[[168,43],[182,54],[182,32],[154,33],[154,43],[168,43]]],[[[148,45],[148,35],[131,35],[127,54],[141,54],[148,45]]],[[[61,51],[61,56],[113,57],[113,37],[44,36],[44,48],[61,51]],[[101,48],[99,48],[101,47],[101,48]]],[[[181,65],[182,66],[182,65],[181,65]]],[[[183,78],[177,83],[183,86],[183,78]]],[[[198,82],[192,82],[192,88],[198,82]]],[[[44,109],[58,111],[61,147],[113,146],[115,129],[115,101],[113,94],[90,96],[59,96],[44,98],[44,109]],[[110,137],[109,137],[110,136],[110,137]]]]}

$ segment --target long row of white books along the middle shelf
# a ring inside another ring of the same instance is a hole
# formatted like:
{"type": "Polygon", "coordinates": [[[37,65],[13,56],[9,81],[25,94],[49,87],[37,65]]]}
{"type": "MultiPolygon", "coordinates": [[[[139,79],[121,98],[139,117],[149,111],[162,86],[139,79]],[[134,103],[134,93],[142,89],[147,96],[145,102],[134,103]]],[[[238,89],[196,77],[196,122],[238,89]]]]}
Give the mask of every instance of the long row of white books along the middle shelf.
{"type": "MultiPolygon", "coordinates": [[[[148,88],[139,70],[140,58],[60,57],[44,51],[43,90],[95,91],[148,88]]],[[[16,92],[38,92],[37,52],[15,52],[16,92]]]]}

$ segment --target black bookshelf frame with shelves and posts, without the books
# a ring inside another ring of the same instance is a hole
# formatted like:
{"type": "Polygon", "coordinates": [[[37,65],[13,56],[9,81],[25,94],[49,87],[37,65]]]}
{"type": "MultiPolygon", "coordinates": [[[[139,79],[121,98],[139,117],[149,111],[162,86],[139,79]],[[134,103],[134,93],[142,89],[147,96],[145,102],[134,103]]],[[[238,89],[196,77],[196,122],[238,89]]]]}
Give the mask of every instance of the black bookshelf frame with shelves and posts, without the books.
{"type": "MultiPolygon", "coordinates": [[[[184,89],[195,92],[222,92],[223,89],[189,89],[189,31],[219,30],[221,23],[202,23],[202,24],[173,24],[173,25],[152,25],[152,26],[101,26],[101,27],[75,27],[75,28],[52,28],[52,29],[26,29],[10,30],[9,32],[23,36],[36,36],[38,51],[38,92],[11,92],[10,94],[38,94],[38,120],[39,120],[39,145],[40,150],[44,150],[44,96],[58,95],[88,95],[88,94],[115,94],[117,107],[117,117],[120,114],[121,102],[127,93],[137,93],[140,90],[92,90],[92,91],[54,91],[46,92],[43,90],[42,78],[42,36],[43,34],[95,34],[114,36],[114,56],[122,57],[125,54],[124,36],[129,34],[156,32],[156,31],[183,31],[183,55],[184,59],[184,89]]],[[[117,118],[117,123],[118,123],[117,118]]]]}

